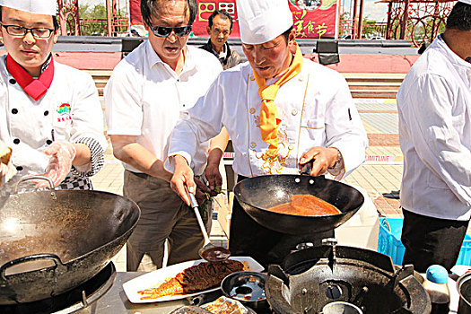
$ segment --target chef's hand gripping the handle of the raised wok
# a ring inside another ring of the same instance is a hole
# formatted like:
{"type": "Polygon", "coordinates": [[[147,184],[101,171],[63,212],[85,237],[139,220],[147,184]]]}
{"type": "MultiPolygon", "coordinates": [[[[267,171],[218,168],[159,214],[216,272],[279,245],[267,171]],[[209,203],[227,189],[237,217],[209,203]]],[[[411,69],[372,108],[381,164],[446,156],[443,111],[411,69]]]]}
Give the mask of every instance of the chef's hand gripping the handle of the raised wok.
{"type": "Polygon", "coordinates": [[[336,148],[321,146],[312,147],[308,152],[302,153],[301,155],[299,162],[300,172],[305,163],[314,160],[312,170],[310,170],[310,176],[320,176],[326,173],[328,168],[333,168],[336,165],[337,159],[338,151],[336,148]]]}

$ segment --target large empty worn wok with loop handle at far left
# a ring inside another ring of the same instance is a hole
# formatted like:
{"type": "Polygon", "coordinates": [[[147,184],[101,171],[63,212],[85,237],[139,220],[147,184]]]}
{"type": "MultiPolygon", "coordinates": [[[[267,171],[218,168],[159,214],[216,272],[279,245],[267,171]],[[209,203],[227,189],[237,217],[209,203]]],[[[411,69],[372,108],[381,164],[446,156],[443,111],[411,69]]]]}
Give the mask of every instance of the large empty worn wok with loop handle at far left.
{"type": "Polygon", "coordinates": [[[0,208],[0,304],[46,299],[107,266],[133,231],[140,210],[107,192],[36,191],[0,208]]]}

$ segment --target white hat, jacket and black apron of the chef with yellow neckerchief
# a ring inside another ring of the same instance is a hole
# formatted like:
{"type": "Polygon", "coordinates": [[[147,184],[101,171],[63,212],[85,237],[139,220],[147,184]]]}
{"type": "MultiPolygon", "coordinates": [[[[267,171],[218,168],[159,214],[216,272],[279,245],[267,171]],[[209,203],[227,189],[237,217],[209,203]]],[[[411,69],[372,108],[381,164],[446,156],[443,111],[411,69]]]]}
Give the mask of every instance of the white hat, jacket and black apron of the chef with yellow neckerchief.
{"type": "MultiPolygon", "coordinates": [[[[237,5],[242,43],[267,42],[292,26],[292,13],[284,0],[238,1],[237,5]]],[[[277,79],[266,80],[266,85],[277,79]]],[[[195,143],[217,135],[225,126],[234,148],[232,167],[240,178],[298,173],[301,154],[314,146],[336,147],[342,154],[344,161],[340,166],[345,166],[345,171],[336,167],[336,179],[364,161],[368,140],[341,74],[304,59],[301,72],[281,85],[275,96],[281,119],[275,158],[260,132],[258,91],[249,63],[222,72],[205,97],[189,110],[189,118],[181,120],[174,129],[169,156],[179,154],[191,161],[196,153],[195,143]]],[[[172,170],[170,161],[166,161],[166,167],[172,170]]],[[[298,243],[320,244],[320,239],[332,235],[333,231],[316,237],[270,231],[253,221],[234,201],[229,249],[232,255],[249,255],[267,265],[281,262],[298,243]]]]}

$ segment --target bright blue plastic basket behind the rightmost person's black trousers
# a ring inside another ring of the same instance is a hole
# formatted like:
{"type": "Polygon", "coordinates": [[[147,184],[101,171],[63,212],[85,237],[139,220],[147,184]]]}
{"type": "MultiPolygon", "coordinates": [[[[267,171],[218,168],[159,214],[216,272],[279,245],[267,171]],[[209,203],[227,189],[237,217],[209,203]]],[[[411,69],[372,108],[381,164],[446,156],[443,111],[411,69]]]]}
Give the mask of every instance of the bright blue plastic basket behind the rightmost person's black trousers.
{"type": "MultiPolygon", "coordinates": [[[[404,245],[401,242],[403,218],[380,218],[378,251],[391,257],[395,265],[402,265],[404,245]]],[[[465,236],[457,265],[471,266],[471,236],[465,236]]]]}

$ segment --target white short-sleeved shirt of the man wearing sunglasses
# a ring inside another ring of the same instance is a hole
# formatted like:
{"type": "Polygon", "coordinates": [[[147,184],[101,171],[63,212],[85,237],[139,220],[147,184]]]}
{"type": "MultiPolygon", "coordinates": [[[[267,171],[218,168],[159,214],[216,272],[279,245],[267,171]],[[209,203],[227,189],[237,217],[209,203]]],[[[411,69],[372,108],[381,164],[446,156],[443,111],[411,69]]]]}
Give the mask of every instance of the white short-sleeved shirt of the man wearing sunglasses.
{"type": "MultiPolygon", "coordinates": [[[[119,62],[105,88],[108,134],[135,135],[138,144],[165,160],[173,127],[221,71],[213,55],[188,47],[183,70],[176,74],[145,41],[119,62]]],[[[196,149],[191,166],[197,175],[205,170],[208,148],[209,142],[196,149]]]]}

